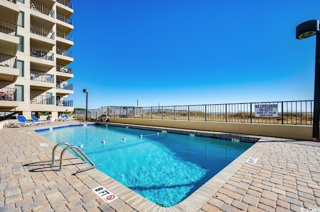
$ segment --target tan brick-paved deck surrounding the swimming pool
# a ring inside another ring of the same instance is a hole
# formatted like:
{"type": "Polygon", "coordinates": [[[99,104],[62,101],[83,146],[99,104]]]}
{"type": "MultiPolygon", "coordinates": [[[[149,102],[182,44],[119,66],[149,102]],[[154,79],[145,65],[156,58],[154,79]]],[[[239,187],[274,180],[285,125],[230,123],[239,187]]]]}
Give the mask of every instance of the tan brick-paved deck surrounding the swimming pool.
{"type": "Polygon", "coordinates": [[[320,211],[320,143],[259,137],[184,201],[162,208],[96,169],[74,176],[88,165],[67,152],[65,171],[51,167],[54,144],[33,129],[70,123],[79,122],[0,129],[0,212],[320,211]],[[100,185],[119,199],[106,204],[92,191],[100,185]]]}

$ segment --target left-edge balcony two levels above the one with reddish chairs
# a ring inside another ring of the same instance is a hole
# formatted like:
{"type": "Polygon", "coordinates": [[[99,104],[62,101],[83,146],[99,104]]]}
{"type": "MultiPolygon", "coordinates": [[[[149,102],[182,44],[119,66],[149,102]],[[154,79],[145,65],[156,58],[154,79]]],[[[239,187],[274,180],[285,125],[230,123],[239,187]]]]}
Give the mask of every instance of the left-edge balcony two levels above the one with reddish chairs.
{"type": "Polygon", "coordinates": [[[17,25],[0,19],[0,52],[9,55],[15,55],[19,38],[16,37],[17,25]]]}

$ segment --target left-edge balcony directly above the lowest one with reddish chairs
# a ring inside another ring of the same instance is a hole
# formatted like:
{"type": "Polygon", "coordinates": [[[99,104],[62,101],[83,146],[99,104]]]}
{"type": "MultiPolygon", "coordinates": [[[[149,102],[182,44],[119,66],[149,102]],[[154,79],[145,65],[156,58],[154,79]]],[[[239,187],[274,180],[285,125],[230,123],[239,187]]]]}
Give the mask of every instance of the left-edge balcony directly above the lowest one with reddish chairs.
{"type": "Polygon", "coordinates": [[[18,76],[16,56],[0,54],[0,80],[15,82],[18,76]]]}

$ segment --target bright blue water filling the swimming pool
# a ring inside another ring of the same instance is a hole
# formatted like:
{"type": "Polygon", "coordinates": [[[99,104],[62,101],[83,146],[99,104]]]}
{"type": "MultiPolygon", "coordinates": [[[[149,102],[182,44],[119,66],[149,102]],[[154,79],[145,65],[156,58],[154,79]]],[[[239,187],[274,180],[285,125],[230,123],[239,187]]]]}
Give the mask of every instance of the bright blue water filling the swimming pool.
{"type": "Polygon", "coordinates": [[[90,160],[101,164],[97,169],[163,207],[184,200],[252,146],[114,126],[38,133],[54,143],[82,144],[81,150],[90,160]]]}

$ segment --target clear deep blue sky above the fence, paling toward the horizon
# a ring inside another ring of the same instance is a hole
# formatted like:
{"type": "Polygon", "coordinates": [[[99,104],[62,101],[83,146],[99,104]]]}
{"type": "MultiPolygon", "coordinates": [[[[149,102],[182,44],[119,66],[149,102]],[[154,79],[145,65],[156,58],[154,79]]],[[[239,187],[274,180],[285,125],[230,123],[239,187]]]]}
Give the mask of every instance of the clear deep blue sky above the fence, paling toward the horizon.
{"type": "Polygon", "coordinates": [[[320,0],[71,2],[74,107],[313,99],[320,0]]]}

